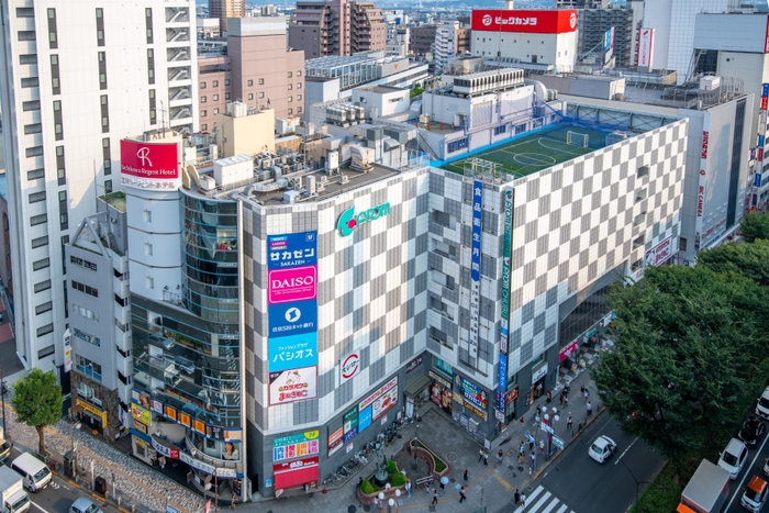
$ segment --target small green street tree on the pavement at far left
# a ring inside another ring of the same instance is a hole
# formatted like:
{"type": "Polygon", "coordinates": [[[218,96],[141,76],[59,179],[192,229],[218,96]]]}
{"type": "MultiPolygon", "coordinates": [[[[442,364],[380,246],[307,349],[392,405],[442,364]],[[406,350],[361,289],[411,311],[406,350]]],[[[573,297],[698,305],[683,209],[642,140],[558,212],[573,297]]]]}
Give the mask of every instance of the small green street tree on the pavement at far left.
{"type": "Polygon", "coordinates": [[[62,417],[62,387],[56,383],[56,375],[32,369],[23,379],[13,384],[11,400],[20,422],[34,427],[40,438],[40,454],[45,454],[46,426],[54,425],[62,417]]]}

